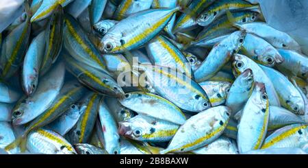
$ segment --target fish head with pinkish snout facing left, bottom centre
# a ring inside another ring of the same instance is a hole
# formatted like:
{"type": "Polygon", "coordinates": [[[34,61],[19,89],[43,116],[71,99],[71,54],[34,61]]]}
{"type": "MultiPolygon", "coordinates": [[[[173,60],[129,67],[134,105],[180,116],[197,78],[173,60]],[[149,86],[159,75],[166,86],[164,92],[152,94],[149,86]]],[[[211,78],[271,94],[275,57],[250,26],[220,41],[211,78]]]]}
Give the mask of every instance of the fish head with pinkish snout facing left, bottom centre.
{"type": "Polygon", "coordinates": [[[147,120],[147,117],[137,115],[136,117],[129,119],[129,121],[120,122],[118,132],[120,135],[123,135],[129,139],[142,141],[144,140],[144,136],[153,133],[151,132],[153,123],[155,123],[155,120],[149,121],[147,120]]]}

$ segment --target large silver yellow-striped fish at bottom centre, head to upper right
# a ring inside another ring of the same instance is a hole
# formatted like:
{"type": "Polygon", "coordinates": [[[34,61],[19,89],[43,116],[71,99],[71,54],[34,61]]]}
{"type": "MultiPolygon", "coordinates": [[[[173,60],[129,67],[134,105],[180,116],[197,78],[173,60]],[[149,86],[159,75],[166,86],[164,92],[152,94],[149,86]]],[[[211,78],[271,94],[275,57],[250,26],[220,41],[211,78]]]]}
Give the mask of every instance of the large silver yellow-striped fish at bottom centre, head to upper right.
{"type": "Polygon", "coordinates": [[[188,152],[215,141],[227,127],[230,113],[226,106],[216,106],[190,117],[160,154],[188,152]]]}

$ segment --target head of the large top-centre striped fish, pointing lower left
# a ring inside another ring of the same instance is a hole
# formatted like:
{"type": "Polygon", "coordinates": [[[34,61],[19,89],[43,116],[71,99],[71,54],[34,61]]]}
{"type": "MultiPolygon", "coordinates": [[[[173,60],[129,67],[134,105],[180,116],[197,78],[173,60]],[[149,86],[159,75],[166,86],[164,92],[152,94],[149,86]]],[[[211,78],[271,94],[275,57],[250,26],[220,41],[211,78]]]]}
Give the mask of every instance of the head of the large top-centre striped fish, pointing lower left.
{"type": "Polygon", "coordinates": [[[125,41],[116,34],[105,34],[101,43],[99,43],[99,51],[102,53],[116,53],[123,49],[125,41]]]}

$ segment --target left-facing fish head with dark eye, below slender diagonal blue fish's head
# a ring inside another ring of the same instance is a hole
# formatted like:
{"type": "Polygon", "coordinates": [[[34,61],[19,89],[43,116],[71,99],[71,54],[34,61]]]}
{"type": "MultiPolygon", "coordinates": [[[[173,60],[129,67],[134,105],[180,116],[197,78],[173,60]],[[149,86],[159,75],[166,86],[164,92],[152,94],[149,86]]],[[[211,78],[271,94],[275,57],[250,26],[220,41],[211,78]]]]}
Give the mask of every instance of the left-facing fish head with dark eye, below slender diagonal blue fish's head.
{"type": "Polygon", "coordinates": [[[248,62],[249,62],[248,59],[249,58],[247,58],[246,56],[238,54],[238,53],[235,53],[233,55],[233,58],[232,58],[232,67],[233,67],[233,69],[232,69],[232,71],[233,71],[233,74],[235,76],[240,75],[246,69],[248,69],[248,62]]]}

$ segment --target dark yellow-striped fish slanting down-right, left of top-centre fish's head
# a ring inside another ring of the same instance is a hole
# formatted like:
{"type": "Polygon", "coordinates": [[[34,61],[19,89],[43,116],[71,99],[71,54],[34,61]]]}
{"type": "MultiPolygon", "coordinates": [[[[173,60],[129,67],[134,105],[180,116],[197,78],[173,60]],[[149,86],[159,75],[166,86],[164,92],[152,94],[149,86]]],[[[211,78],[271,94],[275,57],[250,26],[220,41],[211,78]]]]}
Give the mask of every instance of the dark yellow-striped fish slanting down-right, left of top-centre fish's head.
{"type": "Polygon", "coordinates": [[[68,53],[88,66],[105,70],[105,62],[101,54],[86,36],[79,23],[68,14],[66,14],[64,21],[66,23],[64,26],[64,47],[68,53]]]}

